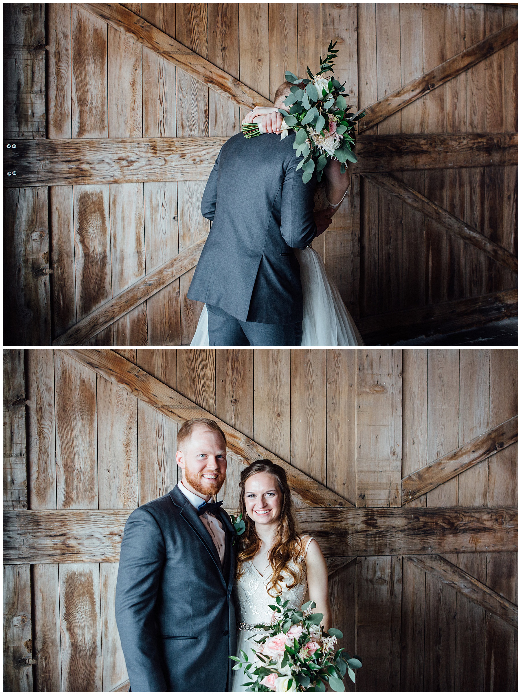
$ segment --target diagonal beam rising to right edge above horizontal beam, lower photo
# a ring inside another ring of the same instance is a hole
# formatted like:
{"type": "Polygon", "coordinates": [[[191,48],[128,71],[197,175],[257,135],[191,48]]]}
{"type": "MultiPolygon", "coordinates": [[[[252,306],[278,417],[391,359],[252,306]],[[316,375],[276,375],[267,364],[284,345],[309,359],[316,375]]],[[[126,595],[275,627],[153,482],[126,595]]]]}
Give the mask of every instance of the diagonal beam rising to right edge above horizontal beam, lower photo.
{"type": "Polygon", "coordinates": [[[406,475],[401,481],[401,503],[405,505],[433,490],[447,480],[463,473],[479,461],[493,456],[518,441],[518,416],[492,427],[458,449],[451,451],[424,468],[406,475]]]}

